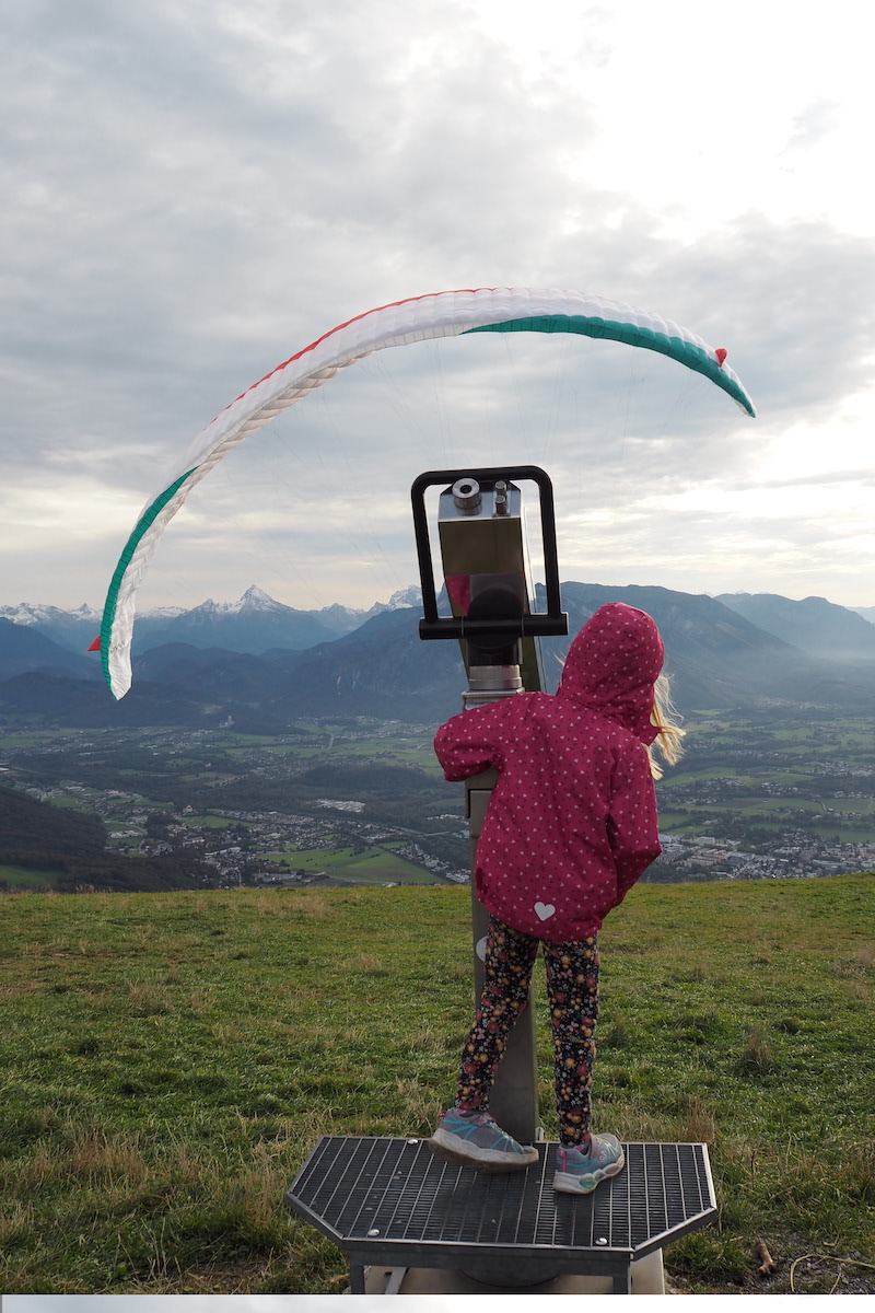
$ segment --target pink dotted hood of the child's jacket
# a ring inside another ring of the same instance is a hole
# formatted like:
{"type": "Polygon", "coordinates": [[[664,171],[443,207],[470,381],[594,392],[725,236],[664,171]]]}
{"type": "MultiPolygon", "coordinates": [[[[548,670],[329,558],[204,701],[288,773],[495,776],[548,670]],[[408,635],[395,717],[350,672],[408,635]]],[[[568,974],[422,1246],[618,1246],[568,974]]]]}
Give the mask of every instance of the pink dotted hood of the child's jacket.
{"type": "Polygon", "coordinates": [[[651,616],[611,601],[600,607],[568,649],[558,696],[619,721],[641,743],[652,743],[659,733],[651,725],[653,684],[664,659],[651,616]]]}

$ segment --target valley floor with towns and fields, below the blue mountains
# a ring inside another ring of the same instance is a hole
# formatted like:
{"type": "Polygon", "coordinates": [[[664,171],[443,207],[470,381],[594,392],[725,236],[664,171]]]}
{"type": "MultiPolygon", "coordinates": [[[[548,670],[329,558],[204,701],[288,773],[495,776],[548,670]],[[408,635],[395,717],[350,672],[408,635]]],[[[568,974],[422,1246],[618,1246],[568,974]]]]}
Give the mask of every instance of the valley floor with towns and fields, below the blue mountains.
{"type": "MultiPolygon", "coordinates": [[[[647,882],[875,868],[875,717],[773,701],[694,712],[686,730],[657,785],[664,852],[647,882]]],[[[366,717],[275,735],[5,729],[0,783],[98,818],[108,851],[172,863],[202,888],[460,884],[462,789],[443,781],[433,733],[366,717]]],[[[29,864],[4,851],[8,888],[54,885],[49,840],[29,864]]],[[[102,888],[100,871],[80,885],[102,888]]]]}

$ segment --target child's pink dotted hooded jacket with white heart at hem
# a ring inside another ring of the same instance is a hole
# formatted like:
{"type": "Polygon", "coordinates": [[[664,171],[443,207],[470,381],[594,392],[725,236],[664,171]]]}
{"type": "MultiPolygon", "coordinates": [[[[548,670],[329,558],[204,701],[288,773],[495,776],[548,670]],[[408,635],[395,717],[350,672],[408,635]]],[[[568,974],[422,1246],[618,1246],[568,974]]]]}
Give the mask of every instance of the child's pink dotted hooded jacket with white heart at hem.
{"type": "Polygon", "coordinates": [[[442,725],[447,780],[499,771],[478,844],[478,897],[538,939],[586,939],[661,852],[645,743],[664,649],[655,622],[602,607],[555,696],[518,693],[442,725]]]}

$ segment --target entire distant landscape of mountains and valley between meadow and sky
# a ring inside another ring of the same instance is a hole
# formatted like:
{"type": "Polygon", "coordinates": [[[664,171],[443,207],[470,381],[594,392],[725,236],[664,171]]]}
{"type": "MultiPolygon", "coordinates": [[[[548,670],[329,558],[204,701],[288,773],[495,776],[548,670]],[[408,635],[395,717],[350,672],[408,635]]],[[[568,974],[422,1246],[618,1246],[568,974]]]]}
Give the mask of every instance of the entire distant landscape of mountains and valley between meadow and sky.
{"type": "MultiPolygon", "coordinates": [[[[823,597],[561,592],[572,634],[622,600],[665,641],[687,751],[657,788],[664,852],[648,882],[875,868],[875,625],[823,597]]],[[[432,754],[466,676],[457,643],[420,641],[417,601],[408,588],[369,612],[299,612],[252,587],[144,616],[118,702],[83,655],[94,613],[7,608],[0,881],[467,881],[463,793],[432,754]]],[[[568,639],[542,646],[552,691],[568,639]]]]}

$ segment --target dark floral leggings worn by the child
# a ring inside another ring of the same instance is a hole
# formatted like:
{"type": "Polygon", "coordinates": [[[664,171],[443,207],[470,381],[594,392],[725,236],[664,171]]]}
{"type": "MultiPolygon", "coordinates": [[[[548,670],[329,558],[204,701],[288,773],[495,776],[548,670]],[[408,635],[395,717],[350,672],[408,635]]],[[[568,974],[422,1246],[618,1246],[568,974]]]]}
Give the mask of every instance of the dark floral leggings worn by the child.
{"type": "Polygon", "coordinates": [[[471,1033],[462,1050],[455,1107],[487,1108],[496,1067],[517,1016],[529,1002],[531,969],[543,947],[554,1039],[559,1140],[576,1145],[589,1134],[589,1090],[598,1016],[598,943],[552,944],[489,916],[485,981],[471,1033]]]}

